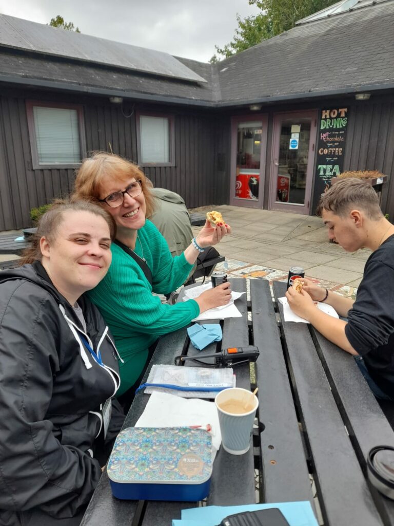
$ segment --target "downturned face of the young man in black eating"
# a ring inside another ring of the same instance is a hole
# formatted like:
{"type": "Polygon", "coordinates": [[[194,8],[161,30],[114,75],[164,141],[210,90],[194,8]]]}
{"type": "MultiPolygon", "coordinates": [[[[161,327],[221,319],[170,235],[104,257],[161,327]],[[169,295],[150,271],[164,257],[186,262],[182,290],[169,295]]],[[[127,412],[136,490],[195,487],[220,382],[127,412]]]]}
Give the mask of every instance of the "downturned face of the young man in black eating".
{"type": "Polygon", "coordinates": [[[360,215],[351,210],[345,217],[337,216],[330,210],[322,210],[324,224],[328,227],[328,238],[336,241],[347,252],[362,248],[360,215]]]}

